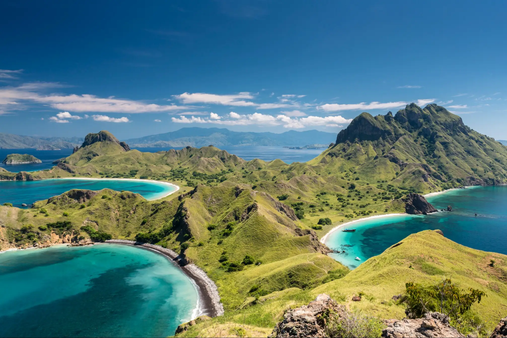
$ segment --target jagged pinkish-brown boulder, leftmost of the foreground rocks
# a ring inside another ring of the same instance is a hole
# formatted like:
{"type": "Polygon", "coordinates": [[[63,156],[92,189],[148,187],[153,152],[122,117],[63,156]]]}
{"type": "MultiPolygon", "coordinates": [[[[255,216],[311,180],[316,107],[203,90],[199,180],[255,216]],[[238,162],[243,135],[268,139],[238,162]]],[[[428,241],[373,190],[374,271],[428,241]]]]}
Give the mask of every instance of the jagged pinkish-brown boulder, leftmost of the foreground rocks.
{"type": "Polygon", "coordinates": [[[338,305],[329,295],[319,294],[310,304],[285,312],[269,337],[325,337],[327,320],[344,311],[345,306],[338,305]]]}

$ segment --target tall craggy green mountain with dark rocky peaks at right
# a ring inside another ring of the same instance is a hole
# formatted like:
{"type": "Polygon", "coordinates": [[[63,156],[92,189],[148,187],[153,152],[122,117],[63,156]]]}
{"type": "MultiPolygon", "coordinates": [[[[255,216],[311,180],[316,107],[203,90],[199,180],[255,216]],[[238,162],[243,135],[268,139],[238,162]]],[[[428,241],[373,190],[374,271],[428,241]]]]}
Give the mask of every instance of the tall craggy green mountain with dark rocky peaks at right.
{"type": "Polygon", "coordinates": [[[507,148],[436,104],[421,109],[412,103],[394,116],[363,112],[309,163],[421,191],[507,180],[507,148]]]}

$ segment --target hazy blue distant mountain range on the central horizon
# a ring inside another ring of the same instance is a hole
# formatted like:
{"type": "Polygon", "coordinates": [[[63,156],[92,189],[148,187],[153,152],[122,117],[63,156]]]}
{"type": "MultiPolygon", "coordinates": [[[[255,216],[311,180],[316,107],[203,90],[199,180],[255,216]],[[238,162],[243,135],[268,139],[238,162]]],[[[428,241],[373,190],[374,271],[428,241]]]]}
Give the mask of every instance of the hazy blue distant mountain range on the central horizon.
{"type": "Polygon", "coordinates": [[[303,146],[305,144],[330,144],[336,133],[318,130],[289,130],[281,134],[270,132],[238,132],[226,128],[182,128],[164,134],[149,135],[125,140],[131,147],[201,147],[206,145],[271,145],[303,146]]]}

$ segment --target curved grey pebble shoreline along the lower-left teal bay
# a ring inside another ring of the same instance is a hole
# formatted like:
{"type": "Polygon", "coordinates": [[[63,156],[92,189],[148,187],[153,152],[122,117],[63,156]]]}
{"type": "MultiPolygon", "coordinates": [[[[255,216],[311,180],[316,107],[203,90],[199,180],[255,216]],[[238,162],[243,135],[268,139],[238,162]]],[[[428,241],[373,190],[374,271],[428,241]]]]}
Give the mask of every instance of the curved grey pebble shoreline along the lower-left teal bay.
{"type": "Polygon", "coordinates": [[[202,315],[216,317],[224,314],[224,306],[220,302],[220,295],[218,288],[216,287],[216,284],[207,276],[204,270],[197,267],[195,264],[187,264],[185,266],[180,266],[177,262],[177,260],[180,257],[176,252],[161,247],[160,245],[139,243],[129,240],[111,239],[105,241],[105,243],[132,245],[143,249],[155,251],[159,254],[162,254],[167,259],[169,259],[175,266],[182,269],[185,275],[187,275],[187,277],[191,279],[192,284],[196,288],[198,294],[197,307],[194,310],[194,313],[192,314],[192,318],[190,318],[189,320],[194,320],[195,318],[202,315]]]}

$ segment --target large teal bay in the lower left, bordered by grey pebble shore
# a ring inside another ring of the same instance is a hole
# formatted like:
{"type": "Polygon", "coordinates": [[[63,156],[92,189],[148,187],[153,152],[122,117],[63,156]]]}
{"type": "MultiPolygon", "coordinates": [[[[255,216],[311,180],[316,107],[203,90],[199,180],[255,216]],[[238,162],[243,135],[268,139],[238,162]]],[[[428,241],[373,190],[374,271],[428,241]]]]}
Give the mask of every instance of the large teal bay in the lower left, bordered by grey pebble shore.
{"type": "Polygon", "coordinates": [[[99,244],[0,254],[0,336],[168,336],[197,291],[150,250],[99,244]]]}

